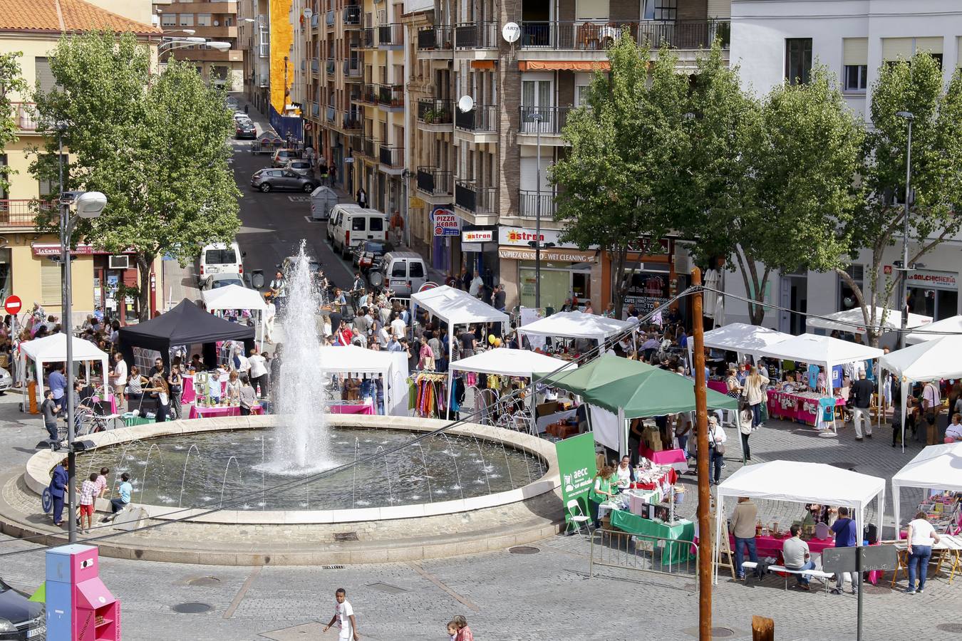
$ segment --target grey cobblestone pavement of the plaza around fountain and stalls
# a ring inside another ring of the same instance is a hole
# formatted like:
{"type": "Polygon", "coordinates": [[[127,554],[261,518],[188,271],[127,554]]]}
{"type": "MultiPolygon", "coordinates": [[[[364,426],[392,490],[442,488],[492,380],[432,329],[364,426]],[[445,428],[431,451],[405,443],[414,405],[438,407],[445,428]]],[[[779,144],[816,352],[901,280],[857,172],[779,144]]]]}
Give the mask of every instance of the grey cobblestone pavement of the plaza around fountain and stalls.
{"type": "MultiPolygon", "coordinates": [[[[6,447],[0,464],[20,465],[42,435],[37,417],[19,413],[11,395],[0,400],[0,432],[6,447]]],[[[729,443],[737,444],[734,431],[729,443]]],[[[890,447],[891,431],[856,443],[851,428],[822,438],[800,426],[772,421],[751,436],[754,462],[775,458],[844,464],[858,472],[891,478],[920,446],[904,455],[890,447]]],[[[725,476],[739,463],[737,445],[725,476]]],[[[694,484],[686,477],[683,482],[694,484]]],[[[799,485],[805,480],[799,479],[799,485]]],[[[690,489],[694,490],[694,486],[690,489]]],[[[683,515],[695,510],[688,493],[683,515]]],[[[906,497],[909,503],[916,498],[906,497]]],[[[797,518],[793,505],[760,505],[766,520],[797,518]]],[[[909,507],[910,509],[910,507],[909,507]]],[[[886,510],[891,514],[891,501],[886,510]]],[[[871,518],[877,518],[872,515],[871,518]]],[[[889,519],[891,516],[888,517],[889,519]]],[[[886,523],[888,523],[886,521],[886,523]]],[[[888,524],[891,525],[891,524],[888,524]]],[[[467,617],[478,641],[487,639],[696,638],[698,597],[692,576],[664,576],[615,568],[595,568],[588,578],[589,544],[579,536],[552,536],[530,555],[500,551],[419,563],[324,567],[223,567],[138,562],[103,558],[101,576],[122,602],[127,641],[155,639],[335,639],[320,633],[333,611],[334,590],[344,587],[358,616],[362,638],[440,640],[455,614],[467,617]],[[200,580],[197,579],[213,578],[200,580]],[[179,614],[175,604],[209,604],[202,614],[179,614]]],[[[0,554],[28,550],[22,541],[0,540],[0,554]]],[[[21,589],[35,589],[43,573],[42,555],[13,555],[0,561],[0,576],[21,589]]],[[[814,585],[814,583],[813,583],[814,585]]],[[[962,639],[957,627],[962,580],[931,579],[924,595],[906,596],[888,581],[866,590],[866,639],[917,637],[962,639]],[[943,628],[938,628],[944,626],[943,628]]],[[[751,615],[775,620],[776,638],[823,641],[854,639],[856,600],[782,589],[781,579],[761,585],[722,577],[714,591],[714,625],[733,636],[751,637],[751,615]]],[[[717,637],[722,638],[722,637],[717,637]]]]}

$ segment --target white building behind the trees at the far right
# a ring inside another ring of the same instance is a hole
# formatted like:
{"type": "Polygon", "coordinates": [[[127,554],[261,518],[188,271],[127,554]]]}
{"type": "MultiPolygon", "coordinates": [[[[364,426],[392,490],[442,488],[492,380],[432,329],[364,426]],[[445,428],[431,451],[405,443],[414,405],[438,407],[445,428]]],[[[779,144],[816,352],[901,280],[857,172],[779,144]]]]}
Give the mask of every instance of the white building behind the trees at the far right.
{"type": "MultiPolygon", "coordinates": [[[[884,62],[927,51],[941,60],[948,85],[962,66],[962,6],[942,0],[732,0],[731,61],[756,91],[785,82],[804,82],[821,62],[835,73],[852,111],[868,118],[872,86],[884,62]]],[[[942,242],[924,257],[925,267],[909,275],[911,310],[936,319],[962,312],[962,238],[942,242]]],[[[910,254],[913,252],[909,250],[910,254]]],[[[886,254],[886,273],[901,259],[901,242],[886,254]]],[[[853,261],[856,281],[870,264],[869,252],[853,261]]],[[[741,274],[727,274],[725,288],[744,295],[741,274]]],[[[766,300],[808,313],[834,313],[855,305],[852,292],[835,274],[777,274],[766,300]]],[[[893,303],[892,306],[896,304],[893,303]]],[[[729,301],[729,321],[747,319],[747,308],[729,301]]],[[[805,331],[804,317],[769,313],[769,327],[805,331]]]]}

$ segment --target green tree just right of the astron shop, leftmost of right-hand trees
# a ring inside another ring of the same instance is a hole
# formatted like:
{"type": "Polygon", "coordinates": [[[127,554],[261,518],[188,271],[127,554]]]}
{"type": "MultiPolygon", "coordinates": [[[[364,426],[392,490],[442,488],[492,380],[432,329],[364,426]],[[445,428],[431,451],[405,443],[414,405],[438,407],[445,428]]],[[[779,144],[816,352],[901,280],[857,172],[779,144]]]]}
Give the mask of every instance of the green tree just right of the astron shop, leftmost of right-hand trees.
{"type": "Polygon", "coordinates": [[[674,188],[671,163],[684,144],[682,121],[688,81],[675,73],[667,47],[651,63],[649,50],[622,33],[608,50],[609,72],[597,71],[586,107],[572,111],[562,138],[570,154],[550,172],[559,187],[555,218],[564,240],[597,245],[612,257],[612,298],[620,314],[629,246],[671,230],[663,197],[674,188]],[[649,73],[650,71],[650,73],[649,73]]]}

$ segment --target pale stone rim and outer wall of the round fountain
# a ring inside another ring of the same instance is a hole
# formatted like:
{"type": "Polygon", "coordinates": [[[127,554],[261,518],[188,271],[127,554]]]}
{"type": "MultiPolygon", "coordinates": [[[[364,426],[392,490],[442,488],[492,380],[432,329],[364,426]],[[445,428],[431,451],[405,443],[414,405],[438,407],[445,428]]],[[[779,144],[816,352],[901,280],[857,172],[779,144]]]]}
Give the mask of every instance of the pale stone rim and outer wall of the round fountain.
{"type": "MultiPolygon", "coordinates": [[[[378,430],[433,431],[446,422],[393,416],[329,415],[329,424],[378,430]]],[[[121,428],[93,434],[89,440],[105,447],[131,440],[208,431],[269,428],[273,416],[195,419],[121,428]]],[[[351,563],[414,560],[484,552],[531,542],[558,530],[562,516],[554,445],[517,431],[478,424],[463,424],[449,431],[504,443],[541,459],[546,472],[515,489],[485,496],[435,501],[415,505],[386,505],[353,509],[262,510],[233,509],[204,514],[170,505],[141,505],[146,524],[191,516],[156,530],[123,534],[102,542],[101,553],[174,562],[252,564],[351,563]],[[176,512],[176,514],[174,514],[176,512]],[[242,527],[238,527],[242,526],[242,527]],[[357,540],[344,542],[349,531],[357,540]]],[[[86,439],[85,439],[86,440],[86,439]]],[[[0,523],[14,535],[50,534],[50,541],[65,532],[35,514],[16,514],[16,508],[36,501],[49,482],[50,469],[63,453],[40,452],[32,456],[22,476],[0,478],[4,489],[16,485],[27,495],[20,503],[0,503],[0,523]],[[30,497],[33,498],[30,498],[30,497]],[[13,505],[12,505],[13,504],[13,505]]],[[[82,473],[84,471],[78,465],[82,473]]],[[[112,475],[113,476],[113,475],[112,475]]],[[[136,498],[136,493],[135,493],[136,498]]],[[[99,510],[108,509],[98,502],[99,510]]],[[[113,533],[106,530],[103,533],[113,533]]],[[[83,537],[81,537],[81,540],[83,537]]]]}

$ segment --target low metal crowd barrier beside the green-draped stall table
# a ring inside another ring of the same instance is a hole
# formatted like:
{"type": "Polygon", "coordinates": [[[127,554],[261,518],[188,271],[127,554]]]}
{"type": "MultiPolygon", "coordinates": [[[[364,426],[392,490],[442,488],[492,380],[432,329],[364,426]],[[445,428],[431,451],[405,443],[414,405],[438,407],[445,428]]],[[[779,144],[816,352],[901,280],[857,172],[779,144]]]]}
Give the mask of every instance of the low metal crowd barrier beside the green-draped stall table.
{"type": "Polygon", "coordinates": [[[595,530],[595,536],[592,537],[588,565],[589,578],[595,576],[595,565],[662,575],[695,577],[698,569],[698,553],[692,541],[600,529],[595,530]],[[687,550],[687,554],[680,552],[679,546],[684,546],[682,550],[687,550]],[[674,559],[675,555],[683,556],[683,560],[674,559]]]}

